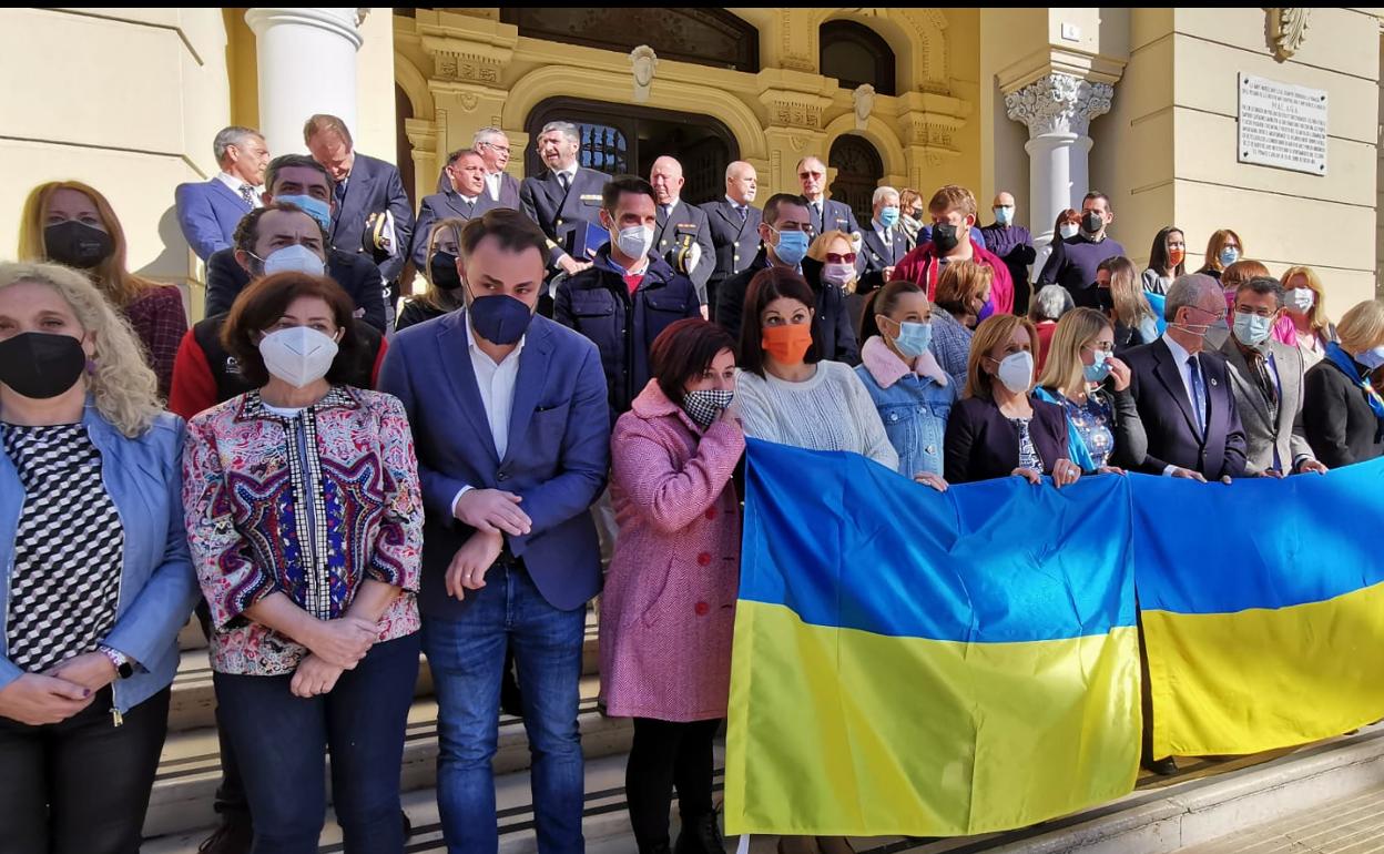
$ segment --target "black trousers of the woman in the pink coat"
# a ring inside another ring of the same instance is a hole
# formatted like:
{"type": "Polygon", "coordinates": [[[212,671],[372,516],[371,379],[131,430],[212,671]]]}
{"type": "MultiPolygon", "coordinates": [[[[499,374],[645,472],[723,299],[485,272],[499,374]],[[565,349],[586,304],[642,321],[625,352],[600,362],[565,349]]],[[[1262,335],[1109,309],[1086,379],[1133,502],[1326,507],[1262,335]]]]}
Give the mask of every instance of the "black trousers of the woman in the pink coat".
{"type": "Polygon", "coordinates": [[[711,741],[721,721],[674,723],[634,718],[634,745],[624,770],[630,824],[641,851],[668,844],[668,808],[673,786],[678,812],[688,826],[713,811],[711,741]]]}

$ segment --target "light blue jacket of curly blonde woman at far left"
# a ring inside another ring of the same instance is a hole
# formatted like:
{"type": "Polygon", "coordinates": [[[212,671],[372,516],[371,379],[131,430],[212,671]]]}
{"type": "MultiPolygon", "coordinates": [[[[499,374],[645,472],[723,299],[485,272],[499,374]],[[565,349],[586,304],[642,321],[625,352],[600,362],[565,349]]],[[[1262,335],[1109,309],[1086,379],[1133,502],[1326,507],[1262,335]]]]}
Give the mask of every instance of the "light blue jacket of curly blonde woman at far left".
{"type": "MultiPolygon", "coordinates": [[[[183,419],[165,412],[143,436],[129,439],[87,400],[82,424],[101,454],[101,482],[125,527],[115,628],[104,644],[134,659],[134,674],[112,684],[122,714],[173,682],[177,634],[199,595],[183,527],[183,419]]],[[[24,486],[0,453],[0,613],[8,613],[14,538],[24,486]]],[[[10,662],[0,626],[0,688],[25,674],[10,662]]]]}

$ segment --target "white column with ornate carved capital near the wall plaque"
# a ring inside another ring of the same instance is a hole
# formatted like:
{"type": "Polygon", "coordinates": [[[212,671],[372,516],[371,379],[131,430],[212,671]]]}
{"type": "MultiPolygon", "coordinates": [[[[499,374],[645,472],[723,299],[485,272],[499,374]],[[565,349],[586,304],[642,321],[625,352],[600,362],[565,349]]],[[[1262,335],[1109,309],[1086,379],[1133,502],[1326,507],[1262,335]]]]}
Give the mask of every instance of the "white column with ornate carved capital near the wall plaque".
{"type": "MultiPolygon", "coordinates": [[[[1028,223],[1034,246],[1052,241],[1052,223],[1091,188],[1091,119],[1110,112],[1114,86],[1049,73],[1005,94],[1009,118],[1028,126],[1028,223]],[[1041,234],[1039,234],[1041,230],[1041,234]]],[[[1035,270],[1037,273],[1037,270],[1035,270]]]]}

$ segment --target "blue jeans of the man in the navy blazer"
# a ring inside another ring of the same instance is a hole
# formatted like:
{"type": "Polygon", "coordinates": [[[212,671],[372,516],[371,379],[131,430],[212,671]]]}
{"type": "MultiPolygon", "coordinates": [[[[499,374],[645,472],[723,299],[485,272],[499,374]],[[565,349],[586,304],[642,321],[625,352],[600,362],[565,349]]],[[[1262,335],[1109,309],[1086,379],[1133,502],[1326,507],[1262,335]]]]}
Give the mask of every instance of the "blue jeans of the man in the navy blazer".
{"type": "MultiPolygon", "coordinates": [[[[533,753],[540,854],[580,854],[583,768],[577,731],[585,608],[558,610],[522,569],[493,567],[468,590],[462,617],[424,617],[437,693],[437,807],[448,854],[494,854],[500,674],[513,649],[533,753]]],[[[256,819],[259,817],[256,815],[256,819]]]]}

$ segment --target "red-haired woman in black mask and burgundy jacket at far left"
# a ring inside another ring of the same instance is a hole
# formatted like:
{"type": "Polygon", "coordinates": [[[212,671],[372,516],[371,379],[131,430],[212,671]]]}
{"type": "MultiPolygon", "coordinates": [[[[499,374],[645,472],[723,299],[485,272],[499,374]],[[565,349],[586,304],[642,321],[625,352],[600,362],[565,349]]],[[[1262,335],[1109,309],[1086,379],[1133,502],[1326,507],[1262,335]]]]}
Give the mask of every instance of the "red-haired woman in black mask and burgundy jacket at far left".
{"type": "Polygon", "coordinates": [[[167,397],[173,357],[187,332],[183,295],[126,269],[125,230],[104,195],[79,181],[35,187],[19,220],[19,260],[86,270],[130,321],[158,378],[158,393],[167,397]]]}

